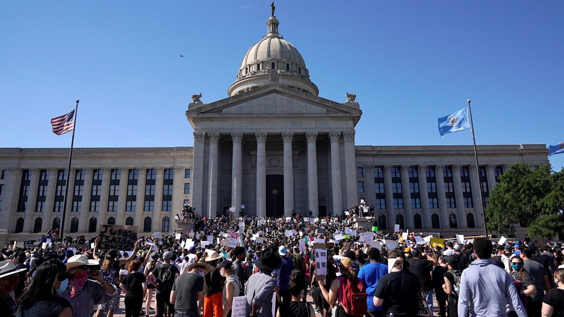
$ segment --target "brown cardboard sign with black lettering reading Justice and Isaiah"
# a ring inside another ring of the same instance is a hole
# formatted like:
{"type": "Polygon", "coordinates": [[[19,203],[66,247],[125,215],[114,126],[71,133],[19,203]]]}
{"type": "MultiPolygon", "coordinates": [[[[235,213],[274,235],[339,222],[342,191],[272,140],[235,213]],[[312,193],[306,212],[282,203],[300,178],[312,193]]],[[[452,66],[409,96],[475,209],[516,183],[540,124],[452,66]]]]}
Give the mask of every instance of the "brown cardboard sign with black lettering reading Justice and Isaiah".
{"type": "Polygon", "coordinates": [[[98,249],[132,251],[137,241],[137,226],[100,225],[98,249]]]}

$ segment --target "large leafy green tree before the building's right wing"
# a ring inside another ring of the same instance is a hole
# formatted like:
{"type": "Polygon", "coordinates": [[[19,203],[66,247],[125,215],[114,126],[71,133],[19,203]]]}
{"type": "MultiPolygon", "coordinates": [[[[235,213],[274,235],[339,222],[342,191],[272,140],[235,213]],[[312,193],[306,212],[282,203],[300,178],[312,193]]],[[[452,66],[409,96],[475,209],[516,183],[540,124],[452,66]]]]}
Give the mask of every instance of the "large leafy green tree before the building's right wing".
{"type": "Polygon", "coordinates": [[[490,192],[486,208],[488,229],[513,235],[515,224],[528,226],[544,213],[556,213],[548,212],[552,199],[541,203],[552,191],[550,165],[531,169],[528,164],[516,163],[500,176],[500,181],[490,192]]]}

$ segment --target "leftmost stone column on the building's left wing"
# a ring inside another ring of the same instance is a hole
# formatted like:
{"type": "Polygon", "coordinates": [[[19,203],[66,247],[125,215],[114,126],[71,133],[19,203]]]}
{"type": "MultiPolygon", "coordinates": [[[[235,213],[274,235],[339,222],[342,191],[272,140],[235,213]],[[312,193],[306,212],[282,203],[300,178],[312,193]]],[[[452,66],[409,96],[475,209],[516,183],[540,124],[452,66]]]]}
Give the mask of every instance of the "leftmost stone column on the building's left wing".
{"type": "MultiPolygon", "coordinates": [[[[20,217],[16,213],[17,200],[18,200],[18,190],[19,185],[21,185],[21,173],[22,170],[19,167],[9,167],[8,177],[6,178],[6,188],[3,195],[3,208],[2,208],[2,218],[0,218],[0,230],[7,230],[6,233],[14,232],[15,221],[20,217]],[[12,216],[13,215],[13,216],[12,216]],[[11,219],[10,219],[10,216],[11,219]]],[[[6,242],[7,242],[6,234],[6,242]]]]}

